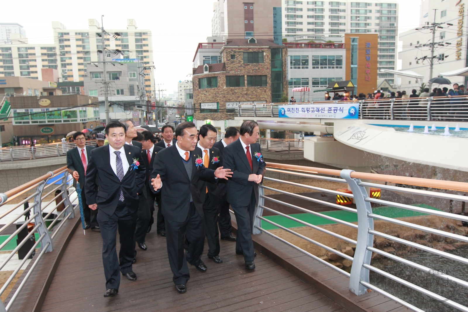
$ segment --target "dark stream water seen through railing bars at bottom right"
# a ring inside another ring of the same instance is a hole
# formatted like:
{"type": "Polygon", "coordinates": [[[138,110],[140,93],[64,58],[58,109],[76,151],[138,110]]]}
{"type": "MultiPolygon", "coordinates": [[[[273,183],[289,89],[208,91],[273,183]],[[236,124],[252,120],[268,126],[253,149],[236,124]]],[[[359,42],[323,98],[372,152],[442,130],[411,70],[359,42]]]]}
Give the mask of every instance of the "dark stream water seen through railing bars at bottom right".
{"type": "MultiPolygon", "coordinates": [[[[449,253],[468,258],[468,246],[453,250],[449,253]]],[[[431,269],[445,271],[447,275],[468,281],[468,265],[461,262],[446,259],[435,254],[429,254],[424,251],[408,254],[404,258],[431,269]]],[[[380,268],[394,276],[423,287],[424,289],[431,290],[456,303],[468,306],[468,288],[464,286],[447,282],[428,272],[411,268],[405,264],[387,258],[374,260],[371,264],[376,268],[380,268]]],[[[460,311],[446,303],[425,296],[417,290],[412,290],[409,287],[403,286],[398,282],[392,281],[372,271],[370,273],[370,283],[426,312],[460,311]]]]}

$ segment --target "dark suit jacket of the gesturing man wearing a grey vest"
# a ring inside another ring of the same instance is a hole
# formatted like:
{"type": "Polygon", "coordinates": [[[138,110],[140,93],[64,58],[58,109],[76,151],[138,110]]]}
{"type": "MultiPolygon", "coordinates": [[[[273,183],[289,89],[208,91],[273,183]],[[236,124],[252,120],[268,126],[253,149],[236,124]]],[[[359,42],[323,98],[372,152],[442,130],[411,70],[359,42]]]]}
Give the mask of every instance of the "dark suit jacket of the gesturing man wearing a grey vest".
{"type": "Polygon", "coordinates": [[[190,162],[192,164],[192,176],[190,178],[176,145],[164,148],[156,154],[151,178],[156,178],[158,174],[161,177],[161,212],[164,218],[176,222],[185,221],[189,214],[190,194],[198,214],[204,218],[198,181],[204,180],[216,183],[216,179],[214,170],[205,168],[203,165],[199,167],[195,165],[195,160],[198,156],[201,157],[202,154],[198,147],[190,152],[190,162]]]}

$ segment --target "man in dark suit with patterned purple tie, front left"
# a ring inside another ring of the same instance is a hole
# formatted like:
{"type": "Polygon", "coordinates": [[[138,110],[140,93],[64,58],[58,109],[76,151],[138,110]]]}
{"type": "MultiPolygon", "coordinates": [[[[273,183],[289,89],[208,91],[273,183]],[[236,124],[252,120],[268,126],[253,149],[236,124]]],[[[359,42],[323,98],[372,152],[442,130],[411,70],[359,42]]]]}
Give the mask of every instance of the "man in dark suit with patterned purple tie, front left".
{"type": "Polygon", "coordinates": [[[85,194],[89,208],[99,209],[97,222],[102,236],[102,262],[106,277],[104,297],[118,293],[120,272],[135,281],[132,270],[135,222],[138,196],[145,186],[146,170],[138,147],[125,144],[125,126],[113,121],[107,124],[109,145],[91,151],[85,178],[85,194]],[[99,185],[99,190],[96,189],[99,185]],[[117,258],[117,227],[120,251],[117,258]]]}

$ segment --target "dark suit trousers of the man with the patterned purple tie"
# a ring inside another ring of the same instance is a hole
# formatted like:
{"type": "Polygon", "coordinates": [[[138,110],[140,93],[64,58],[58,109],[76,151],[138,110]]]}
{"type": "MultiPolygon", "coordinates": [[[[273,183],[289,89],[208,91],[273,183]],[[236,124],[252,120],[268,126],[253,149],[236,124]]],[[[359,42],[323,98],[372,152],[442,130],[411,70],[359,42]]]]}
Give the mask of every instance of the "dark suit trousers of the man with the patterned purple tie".
{"type": "Polygon", "coordinates": [[[102,263],[106,277],[106,289],[118,289],[120,285],[120,272],[132,272],[133,252],[135,242],[136,213],[128,210],[125,202],[118,202],[112,216],[102,211],[97,216],[97,222],[102,236],[102,263]],[[120,238],[120,251],[117,258],[116,240],[117,228],[120,238]],[[120,271],[120,272],[119,272],[120,271]]]}

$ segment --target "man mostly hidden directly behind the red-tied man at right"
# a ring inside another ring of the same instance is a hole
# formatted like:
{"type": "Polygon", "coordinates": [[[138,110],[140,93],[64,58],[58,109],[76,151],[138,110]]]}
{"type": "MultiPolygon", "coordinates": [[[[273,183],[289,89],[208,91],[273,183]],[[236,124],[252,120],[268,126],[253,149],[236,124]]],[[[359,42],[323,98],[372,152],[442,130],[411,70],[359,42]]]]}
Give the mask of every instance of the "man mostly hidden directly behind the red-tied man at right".
{"type": "MultiPolygon", "coordinates": [[[[219,149],[221,156],[224,148],[237,141],[241,134],[236,127],[229,127],[226,129],[224,138],[216,142],[213,146],[219,149]]],[[[218,205],[218,225],[219,232],[221,233],[221,239],[235,241],[235,237],[232,236],[232,224],[231,224],[231,213],[229,212],[229,203],[226,199],[226,180],[220,180],[218,183],[218,194],[219,194],[219,205],[218,205]]]]}

